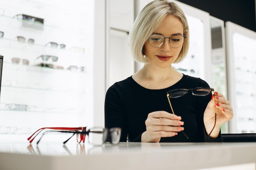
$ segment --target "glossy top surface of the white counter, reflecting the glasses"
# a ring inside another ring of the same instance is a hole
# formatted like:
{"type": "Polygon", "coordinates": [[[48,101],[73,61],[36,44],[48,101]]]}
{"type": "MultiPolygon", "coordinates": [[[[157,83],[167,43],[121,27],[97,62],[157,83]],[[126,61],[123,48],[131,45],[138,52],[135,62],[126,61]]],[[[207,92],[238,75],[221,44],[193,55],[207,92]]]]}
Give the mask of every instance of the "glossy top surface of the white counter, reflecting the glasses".
{"type": "MultiPolygon", "coordinates": [[[[245,143],[232,143],[242,146],[245,143]]],[[[43,156],[81,156],[119,153],[149,153],[159,151],[186,151],[198,149],[227,148],[231,143],[145,143],[145,142],[120,142],[112,145],[106,142],[100,146],[88,143],[71,141],[66,144],[56,141],[42,141],[40,144],[29,142],[0,142],[0,153],[16,153],[43,156]]],[[[256,146],[255,142],[246,145],[256,146]]]]}

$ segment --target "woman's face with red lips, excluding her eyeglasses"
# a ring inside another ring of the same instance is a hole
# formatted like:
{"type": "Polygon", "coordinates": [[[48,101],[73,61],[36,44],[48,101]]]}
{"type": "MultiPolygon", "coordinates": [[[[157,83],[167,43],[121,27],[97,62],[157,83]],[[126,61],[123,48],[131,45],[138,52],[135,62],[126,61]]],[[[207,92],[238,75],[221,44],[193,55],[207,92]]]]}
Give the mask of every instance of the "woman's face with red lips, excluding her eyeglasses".
{"type": "MultiPolygon", "coordinates": [[[[168,15],[153,34],[163,35],[164,37],[183,35],[183,24],[177,17],[168,15]]],[[[153,47],[147,40],[144,45],[144,53],[150,60],[150,64],[156,65],[160,68],[166,68],[177,59],[182,46],[173,48],[169,43],[169,39],[166,38],[162,46],[153,47]]]]}

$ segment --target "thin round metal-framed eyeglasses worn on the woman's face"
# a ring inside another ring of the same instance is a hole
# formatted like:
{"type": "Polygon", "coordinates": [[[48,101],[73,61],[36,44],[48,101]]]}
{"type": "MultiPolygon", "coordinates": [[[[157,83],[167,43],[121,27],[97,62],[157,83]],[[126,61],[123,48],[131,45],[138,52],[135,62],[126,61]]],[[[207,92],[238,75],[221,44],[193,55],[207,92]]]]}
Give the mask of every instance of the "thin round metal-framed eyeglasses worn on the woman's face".
{"type": "Polygon", "coordinates": [[[184,42],[186,35],[173,35],[171,37],[164,37],[160,34],[150,35],[148,38],[149,44],[153,47],[161,47],[164,44],[165,39],[169,39],[169,43],[173,48],[179,48],[184,42]]]}

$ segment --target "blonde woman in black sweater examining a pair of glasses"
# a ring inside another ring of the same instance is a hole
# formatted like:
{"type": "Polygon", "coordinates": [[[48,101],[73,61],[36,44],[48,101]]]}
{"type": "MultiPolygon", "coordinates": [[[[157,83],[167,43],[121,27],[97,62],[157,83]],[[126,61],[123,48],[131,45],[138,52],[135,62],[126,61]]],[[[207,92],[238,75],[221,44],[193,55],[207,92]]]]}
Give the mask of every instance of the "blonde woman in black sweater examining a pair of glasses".
{"type": "Polygon", "coordinates": [[[229,101],[212,94],[200,78],[172,67],[189,48],[189,26],[180,7],[167,0],[146,5],[130,32],[130,47],[135,60],[145,64],[108,89],[105,126],[121,127],[121,142],[221,142],[220,125],[233,117],[229,101]],[[177,96],[171,91],[197,87],[208,92],[177,96]]]}

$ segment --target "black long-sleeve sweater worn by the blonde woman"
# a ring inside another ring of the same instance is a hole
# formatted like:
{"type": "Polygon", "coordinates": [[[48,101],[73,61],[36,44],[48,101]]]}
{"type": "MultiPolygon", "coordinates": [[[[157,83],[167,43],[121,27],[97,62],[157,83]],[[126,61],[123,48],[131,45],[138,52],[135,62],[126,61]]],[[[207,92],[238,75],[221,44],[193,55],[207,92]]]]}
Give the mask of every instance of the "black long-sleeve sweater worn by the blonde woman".
{"type": "MultiPolygon", "coordinates": [[[[167,111],[172,113],[167,92],[173,89],[192,89],[209,87],[200,78],[183,75],[182,79],[165,89],[146,89],[136,83],[132,77],[112,85],[105,99],[105,127],[121,127],[120,142],[141,142],[141,134],[146,131],[145,120],[148,113],[167,111]]],[[[180,98],[172,98],[171,103],[176,115],[182,117],[184,133],[174,137],[162,137],[160,142],[222,142],[222,136],[209,138],[203,123],[204,110],[211,100],[208,96],[193,96],[191,92],[180,98]]]]}

